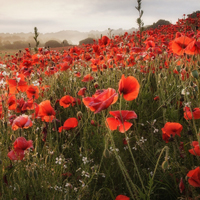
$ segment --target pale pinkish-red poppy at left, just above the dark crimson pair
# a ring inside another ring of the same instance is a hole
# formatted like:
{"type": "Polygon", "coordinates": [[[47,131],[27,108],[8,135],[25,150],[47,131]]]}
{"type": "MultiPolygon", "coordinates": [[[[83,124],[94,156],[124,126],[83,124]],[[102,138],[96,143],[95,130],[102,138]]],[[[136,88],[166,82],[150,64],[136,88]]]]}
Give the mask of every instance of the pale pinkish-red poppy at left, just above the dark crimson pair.
{"type": "Polygon", "coordinates": [[[27,129],[29,127],[33,126],[32,121],[29,119],[28,115],[21,115],[14,119],[12,123],[12,129],[15,131],[18,128],[24,128],[27,129]]]}

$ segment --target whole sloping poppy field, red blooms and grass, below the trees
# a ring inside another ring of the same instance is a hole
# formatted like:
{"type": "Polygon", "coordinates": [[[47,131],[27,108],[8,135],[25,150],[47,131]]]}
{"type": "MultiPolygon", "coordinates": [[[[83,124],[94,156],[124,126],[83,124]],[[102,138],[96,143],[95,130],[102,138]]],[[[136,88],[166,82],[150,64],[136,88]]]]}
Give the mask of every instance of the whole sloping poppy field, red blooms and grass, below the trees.
{"type": "Polygon", "coordinates": [[[200,15],[0,60],[0,198],[200,198],[200,15]]]}

